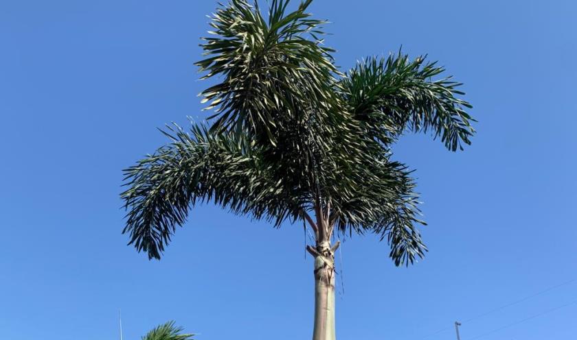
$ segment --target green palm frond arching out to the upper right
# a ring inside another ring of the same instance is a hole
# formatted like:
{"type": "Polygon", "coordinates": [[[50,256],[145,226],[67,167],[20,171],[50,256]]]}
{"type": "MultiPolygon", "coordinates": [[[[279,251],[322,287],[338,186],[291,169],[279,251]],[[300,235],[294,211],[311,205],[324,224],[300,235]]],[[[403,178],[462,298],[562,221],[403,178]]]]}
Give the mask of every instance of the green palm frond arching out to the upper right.
{"type": "Polygon", "coordinates": [[[425,57],[411,61],[399,52],[359,62],[340,85],[355,117],[385,145],[409,128],[431,131],[455,151],[462,143],[471,144],[475,120],[464,110],[471,104],[457,98],[464,95],[458,90],[461,83],[451,77],[433,79],[444,71],[436,62],[425,63],[425,57]]]}

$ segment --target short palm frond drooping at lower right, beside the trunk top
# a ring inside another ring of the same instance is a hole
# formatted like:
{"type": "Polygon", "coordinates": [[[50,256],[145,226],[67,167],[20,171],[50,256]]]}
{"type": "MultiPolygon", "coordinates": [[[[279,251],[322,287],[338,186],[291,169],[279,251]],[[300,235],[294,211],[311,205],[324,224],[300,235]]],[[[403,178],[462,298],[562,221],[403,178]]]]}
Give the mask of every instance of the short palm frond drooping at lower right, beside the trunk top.
{"type": "Polygon", "coordinates": [[[352,190],[331,196],[331,222],[341,234],[378,234],[381,240],[387,239],[395,265],[409,265],[427,251],[416,228],[425,222],[418,219],[418,194],[411,171],[389,156],[381,153],[356,165],[349,174],[354,176],[352,190]]]}

